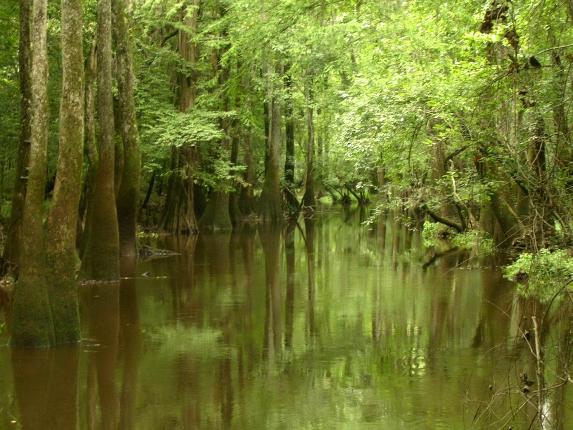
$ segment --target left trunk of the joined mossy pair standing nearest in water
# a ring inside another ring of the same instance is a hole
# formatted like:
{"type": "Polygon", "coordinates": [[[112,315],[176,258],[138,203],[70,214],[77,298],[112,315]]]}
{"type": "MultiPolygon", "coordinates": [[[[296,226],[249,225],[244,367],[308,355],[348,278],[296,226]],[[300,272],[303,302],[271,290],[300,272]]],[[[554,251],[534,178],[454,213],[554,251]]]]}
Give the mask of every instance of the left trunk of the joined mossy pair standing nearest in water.
{"type": "MultiPolygon", "coordinates": [[[[54,325],[46,287],[44,190],[48,145],[47,0],[34,0],[32,41],[32,142],[28,191],[23,208],[20,276],[15,289],[11,346],[39,347],[54,343],[54,325]]],[[[75,210],[75,209],[74,209],[75,210]]]]}

